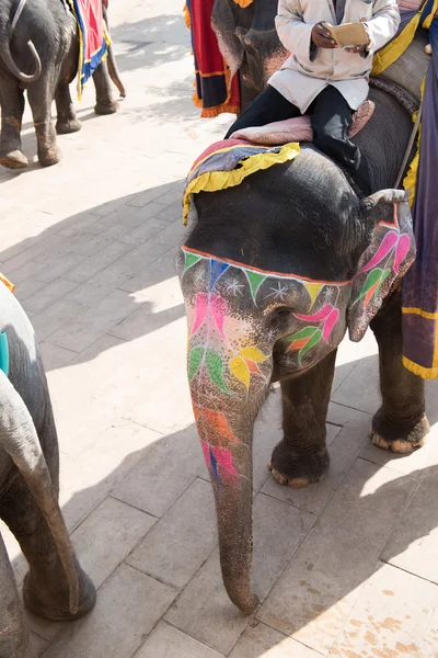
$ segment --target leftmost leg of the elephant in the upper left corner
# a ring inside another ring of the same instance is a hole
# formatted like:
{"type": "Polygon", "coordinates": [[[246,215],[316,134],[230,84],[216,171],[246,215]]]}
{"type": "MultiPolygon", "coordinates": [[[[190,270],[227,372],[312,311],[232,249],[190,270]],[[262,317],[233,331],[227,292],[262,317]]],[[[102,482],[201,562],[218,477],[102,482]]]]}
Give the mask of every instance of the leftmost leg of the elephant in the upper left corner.
{"type": "Polygon", "coordinates": [[[22,169],[28,163],[27,158],[21,152],[24,92],[15,81],[7,79],[1,81],[0,105],[0,164],[9,169],[22,169]]]}

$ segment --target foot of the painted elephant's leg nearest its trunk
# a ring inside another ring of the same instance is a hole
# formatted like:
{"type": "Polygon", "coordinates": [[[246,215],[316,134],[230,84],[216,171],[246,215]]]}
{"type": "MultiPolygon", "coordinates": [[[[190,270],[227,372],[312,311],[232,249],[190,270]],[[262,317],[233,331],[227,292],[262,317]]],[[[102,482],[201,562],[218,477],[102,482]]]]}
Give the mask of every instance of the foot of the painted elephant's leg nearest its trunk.
{"type": "Polygon", "coordinates": [[[300,489],[318,483],[328,467],[328,462],[325,449],[318,454],[301,457],[285,441],[280,441],[275,446],[267,467],[276,483],[300,489]]]}

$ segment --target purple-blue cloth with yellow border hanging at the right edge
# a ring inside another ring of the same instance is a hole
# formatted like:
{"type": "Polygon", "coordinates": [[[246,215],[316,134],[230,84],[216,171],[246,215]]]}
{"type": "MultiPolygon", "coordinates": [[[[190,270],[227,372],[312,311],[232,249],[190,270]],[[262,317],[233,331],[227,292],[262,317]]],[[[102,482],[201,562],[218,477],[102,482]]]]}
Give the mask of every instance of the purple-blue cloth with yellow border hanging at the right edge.
{"type": "MultiPolygon", "coordinates": [[[[403,4],[403,3],[402,3],[403,4]]],[[[374,58],[373,72],[384,70],[407,48],[418,27],[429,31],[431,60],[423,88],[423,116],[417,154],[404,179],[412,192],[417,257],[403,279],[403,363],[426,379],[438,378],[438,0],[419,2],[418,11],[401,11],[399,35],[374,58]]]]}

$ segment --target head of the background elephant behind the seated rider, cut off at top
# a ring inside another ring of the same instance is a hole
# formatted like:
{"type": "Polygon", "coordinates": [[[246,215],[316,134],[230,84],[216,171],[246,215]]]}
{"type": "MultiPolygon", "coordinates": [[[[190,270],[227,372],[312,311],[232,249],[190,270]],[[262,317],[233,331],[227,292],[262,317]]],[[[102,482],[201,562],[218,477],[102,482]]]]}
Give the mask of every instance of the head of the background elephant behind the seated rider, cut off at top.
{"type": "Polygon", "coordinates": [[[211,24],[221,54],[232,75],[240,69],[241,82],[253,97],[287,57],[275,29],[277,5],[278,0],[254,0],[244,8],[235,0],[215,2],[211,24]]]}

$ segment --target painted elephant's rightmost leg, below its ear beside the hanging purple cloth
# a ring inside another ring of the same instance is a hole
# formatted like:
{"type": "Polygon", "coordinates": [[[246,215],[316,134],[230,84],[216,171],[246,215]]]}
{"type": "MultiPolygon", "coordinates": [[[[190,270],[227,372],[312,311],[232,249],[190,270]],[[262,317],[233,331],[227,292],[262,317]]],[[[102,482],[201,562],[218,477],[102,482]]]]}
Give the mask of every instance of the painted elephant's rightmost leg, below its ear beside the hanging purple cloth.
{"type": "Polygon", "coordinates": [[[372,419],[371,440],[376,445],[400,453],[426,443],[424,381],[403,365],[401,293],[395,293],[371,321],[379,344],[382,406],[372,419]]]}

